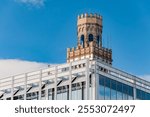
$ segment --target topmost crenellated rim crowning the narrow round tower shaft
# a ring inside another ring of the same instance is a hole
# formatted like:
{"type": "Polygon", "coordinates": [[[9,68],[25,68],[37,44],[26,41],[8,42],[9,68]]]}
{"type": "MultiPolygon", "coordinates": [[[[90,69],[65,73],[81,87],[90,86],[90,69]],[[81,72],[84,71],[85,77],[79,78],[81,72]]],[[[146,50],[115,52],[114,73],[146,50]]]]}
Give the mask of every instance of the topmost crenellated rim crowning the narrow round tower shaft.
{"type": "Polygon", "coordinates": [[[79,19],[83,19],[83,18],[96,18],[96,19],[102,19],[102,16],[99,15],[99,14],[88,14],[88,13],[85,13],[85,14],[81,14],[81,15],[78,15],[78,20],[79,19]]]}

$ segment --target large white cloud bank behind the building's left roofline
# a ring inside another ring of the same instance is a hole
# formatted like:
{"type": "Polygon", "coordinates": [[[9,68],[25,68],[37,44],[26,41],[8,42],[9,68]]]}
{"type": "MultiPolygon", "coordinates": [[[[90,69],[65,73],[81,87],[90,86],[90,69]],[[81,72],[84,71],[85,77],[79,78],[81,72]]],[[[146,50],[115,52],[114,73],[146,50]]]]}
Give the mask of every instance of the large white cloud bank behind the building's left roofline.
{"type": "Polygon", "coordinates": [[[39,70],[47,67],[46,63],[24,61],[19,59],[0,59],[0,78],[39,70]]]}

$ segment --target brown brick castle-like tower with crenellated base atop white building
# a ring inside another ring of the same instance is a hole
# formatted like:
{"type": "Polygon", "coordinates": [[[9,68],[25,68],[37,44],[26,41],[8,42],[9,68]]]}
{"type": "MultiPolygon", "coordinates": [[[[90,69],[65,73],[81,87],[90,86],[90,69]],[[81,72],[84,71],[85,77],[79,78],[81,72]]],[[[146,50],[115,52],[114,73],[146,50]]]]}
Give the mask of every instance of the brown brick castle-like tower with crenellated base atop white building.
{"type": "Polygon", "coordinates": [[[78,16],[76,48],[67,48],[67,62],[89,58],[112,64],[112,50],[102,47],[102,16],[78,16]]]}

